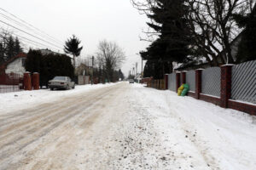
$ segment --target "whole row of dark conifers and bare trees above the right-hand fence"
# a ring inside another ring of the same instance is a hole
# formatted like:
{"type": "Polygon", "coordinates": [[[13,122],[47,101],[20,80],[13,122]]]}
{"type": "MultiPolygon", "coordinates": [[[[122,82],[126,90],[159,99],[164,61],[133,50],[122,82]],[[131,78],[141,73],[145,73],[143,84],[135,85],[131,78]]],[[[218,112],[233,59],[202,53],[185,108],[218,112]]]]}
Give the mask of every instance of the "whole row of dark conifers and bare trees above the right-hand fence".
{"type": "Polygon", "coordinates": [[[146,37],[141,38],[151,42],[140,53],[148,60],[144,76],[162,78],[172,72],[172,62],[207,60],[209,65],[219,66],[256,58],[250,52],[255,52],[251,48],[255,47],[256,32],[253,0],[131,0],[131,3],[149,19],[148,30],[144,31],[146,37]],[[231,42],[240,33],[240,50],[232,56],[231,42]]]}

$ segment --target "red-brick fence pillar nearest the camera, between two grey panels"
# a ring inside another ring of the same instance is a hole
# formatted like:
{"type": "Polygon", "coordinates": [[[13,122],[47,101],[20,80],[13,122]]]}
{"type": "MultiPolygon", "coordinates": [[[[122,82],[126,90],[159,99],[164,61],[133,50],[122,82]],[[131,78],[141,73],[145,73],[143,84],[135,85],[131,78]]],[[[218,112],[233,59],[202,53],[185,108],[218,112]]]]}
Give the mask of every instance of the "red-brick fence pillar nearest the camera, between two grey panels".
{"type": "Polygon", "coordinates": [[[224,108],[228,107],[228,101],[231,98],[232,66],[234,65],[221,66],[220,106],[224,108]]]}

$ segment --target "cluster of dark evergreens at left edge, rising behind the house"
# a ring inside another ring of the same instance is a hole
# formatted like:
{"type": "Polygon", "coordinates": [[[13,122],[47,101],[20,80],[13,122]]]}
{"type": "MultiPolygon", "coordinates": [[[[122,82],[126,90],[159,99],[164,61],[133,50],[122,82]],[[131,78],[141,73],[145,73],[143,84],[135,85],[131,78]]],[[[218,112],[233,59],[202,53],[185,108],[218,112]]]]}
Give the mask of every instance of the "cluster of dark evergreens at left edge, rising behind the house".
{"type": "Polygon", "coordinates": [[[0,32],[0,65],[23,52],[18,37],[6,30],[0,32]]]}

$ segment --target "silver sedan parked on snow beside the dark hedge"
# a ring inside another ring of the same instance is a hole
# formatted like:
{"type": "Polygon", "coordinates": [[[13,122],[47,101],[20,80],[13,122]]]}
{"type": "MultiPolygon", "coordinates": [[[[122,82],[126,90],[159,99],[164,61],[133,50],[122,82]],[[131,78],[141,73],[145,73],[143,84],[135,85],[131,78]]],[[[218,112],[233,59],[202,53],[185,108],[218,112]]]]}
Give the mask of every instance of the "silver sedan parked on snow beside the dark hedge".
{"type": "Polygon", "coordinates": [[[75,88],[75,82],[72,82],[70,77],[54,77],[48,82],[50,90],[75,88]]]}

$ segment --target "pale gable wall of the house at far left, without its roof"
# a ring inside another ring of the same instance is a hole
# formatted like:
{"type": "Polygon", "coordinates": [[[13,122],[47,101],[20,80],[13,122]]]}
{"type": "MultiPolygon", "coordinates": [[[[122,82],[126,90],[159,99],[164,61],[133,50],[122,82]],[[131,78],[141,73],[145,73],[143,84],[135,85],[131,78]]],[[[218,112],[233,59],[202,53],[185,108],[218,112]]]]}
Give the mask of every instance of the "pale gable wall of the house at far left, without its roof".
{"type": "Polygon", "coordinates": [[[9,74],[11,72],[14,72],[16,74],[20,74],[23,75],[23,73],[26,71],[25,68],[22,66],[22,59],[23,58],[19,58],[19,59],[15,59],[13,62],[9,63],[9,65],[7,65],[7,68],[5,70],[6,74],[9,74]]]}

